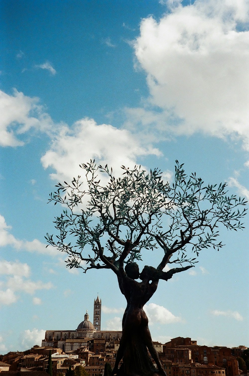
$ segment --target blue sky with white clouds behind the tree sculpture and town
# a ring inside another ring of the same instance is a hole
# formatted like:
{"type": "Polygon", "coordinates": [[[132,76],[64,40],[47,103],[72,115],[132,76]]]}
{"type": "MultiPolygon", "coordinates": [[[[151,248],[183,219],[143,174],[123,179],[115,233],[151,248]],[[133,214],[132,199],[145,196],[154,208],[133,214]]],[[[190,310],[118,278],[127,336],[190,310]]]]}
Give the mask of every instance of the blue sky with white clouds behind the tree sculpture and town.
{"type": "MultiPolygon", "coordinates": [[[[125,301],[111,271],[69,272],[45,248],[58,181],[95,158],[174,161],[249,199],[249,2],[5,1],[0,67],[0,353],[75,329],[102,299],[102,329],[125,301]]],[[[146,306],[152,338],[249,344],[248,224],[226,246],[161,281],[146,306]]],[[[154,262],[145,255],[144,262],[154,262]]]]}

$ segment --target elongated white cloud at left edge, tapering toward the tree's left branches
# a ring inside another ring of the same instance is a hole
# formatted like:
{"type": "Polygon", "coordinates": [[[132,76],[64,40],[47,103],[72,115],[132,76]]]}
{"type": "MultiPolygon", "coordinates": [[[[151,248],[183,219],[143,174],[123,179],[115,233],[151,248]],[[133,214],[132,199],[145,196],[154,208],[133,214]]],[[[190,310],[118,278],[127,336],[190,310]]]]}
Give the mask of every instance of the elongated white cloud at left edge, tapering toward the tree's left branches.
{"type": "Polygon", "coordinates": [[[18,240],[9,232],[10,229],[11,226],[6,224],[5,218],[0,214],[0,247],[12,246],[16,250],[23,249],[28,252],[37,252],[50,256],[55,256],[60,253],[59,250],[52,246],[46,248],[46,244],[41,243],[38,239],[32,241],[18,240]]]}

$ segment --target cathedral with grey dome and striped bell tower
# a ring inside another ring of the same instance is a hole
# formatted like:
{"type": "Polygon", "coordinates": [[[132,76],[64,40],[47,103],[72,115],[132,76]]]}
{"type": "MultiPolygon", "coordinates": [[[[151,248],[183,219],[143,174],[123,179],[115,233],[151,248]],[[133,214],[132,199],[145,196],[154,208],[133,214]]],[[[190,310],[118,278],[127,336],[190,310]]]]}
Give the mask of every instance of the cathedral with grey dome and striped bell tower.
{"type": "Polygon", "coordinates": [[[94,338],[105,340],[120,340],[122,331],[101,331],[101,299],[97,296],[94,299],[94,323],[89,321],[86,311],[84,320],[76,330],[47,330],[42,346],[58,347],[64,352],[77,350],[79,347],[88,346],[89,341],[94,338]]]}

